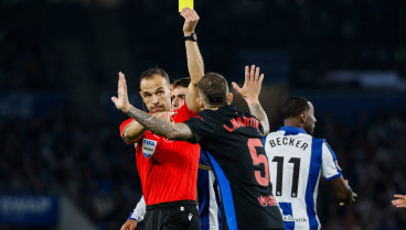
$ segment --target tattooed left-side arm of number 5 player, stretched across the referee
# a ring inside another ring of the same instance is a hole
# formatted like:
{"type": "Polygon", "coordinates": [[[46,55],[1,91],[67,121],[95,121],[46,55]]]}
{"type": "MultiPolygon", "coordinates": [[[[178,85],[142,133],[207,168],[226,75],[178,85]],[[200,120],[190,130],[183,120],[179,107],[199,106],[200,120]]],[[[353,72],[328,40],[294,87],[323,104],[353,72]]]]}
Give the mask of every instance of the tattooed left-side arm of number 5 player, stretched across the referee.
{"type": "Polygon", "coordinates": [[[170,140],[183,141],[193,139],[192,131],[186,124],[164,121],[130,105],[127,94],[126,77],[122,73],[119,73],[117,97],[111,97],[111,101],[116,105],[117,109],[133,118],[140,124],[158,135],[170,140]]]}

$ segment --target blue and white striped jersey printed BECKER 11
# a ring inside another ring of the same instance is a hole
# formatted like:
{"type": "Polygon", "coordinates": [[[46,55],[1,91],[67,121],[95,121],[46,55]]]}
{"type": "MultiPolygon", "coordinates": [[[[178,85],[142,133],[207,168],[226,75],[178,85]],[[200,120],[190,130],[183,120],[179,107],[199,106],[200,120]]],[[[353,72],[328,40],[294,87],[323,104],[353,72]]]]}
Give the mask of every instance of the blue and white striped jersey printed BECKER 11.
{"type": "Polygon", "coordinates": [[[341,176],[334,152],[323,139],[295,127],[269,133],[264,144],[285,229],[320,229],[316,212],[320,176],[327,180],[341,176]]]}

